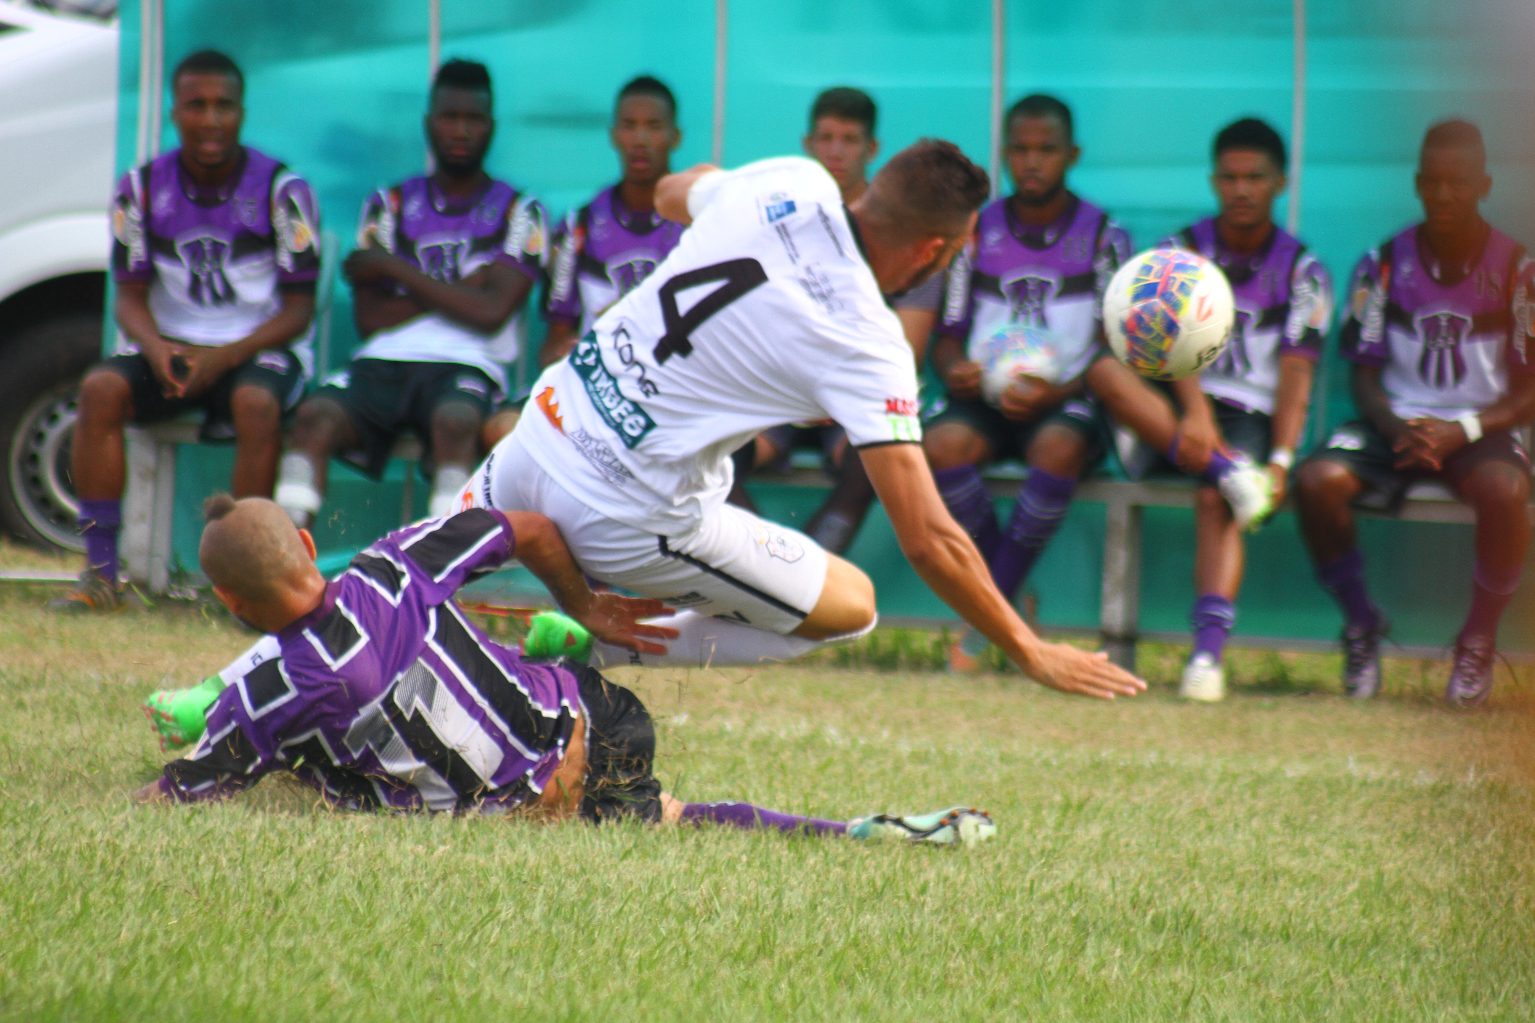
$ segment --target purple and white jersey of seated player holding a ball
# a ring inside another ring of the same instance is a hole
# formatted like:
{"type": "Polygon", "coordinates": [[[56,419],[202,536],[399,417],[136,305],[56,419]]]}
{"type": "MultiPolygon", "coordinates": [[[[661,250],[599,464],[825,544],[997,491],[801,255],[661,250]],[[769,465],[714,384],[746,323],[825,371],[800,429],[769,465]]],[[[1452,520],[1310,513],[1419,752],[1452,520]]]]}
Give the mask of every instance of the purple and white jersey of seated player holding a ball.
{"type": "Polygon", "coordinates": [[[1074,377],[1098,353],[1104,288],[1128,258],[1125,229],[1074,195],[1044,227],[1021,222],[1010,199],[996,199],[949,267],[939,330],[967,339],[975,359],[1008,324],[1044,327],[1061,339],[1065,379],[1074,377]]]}

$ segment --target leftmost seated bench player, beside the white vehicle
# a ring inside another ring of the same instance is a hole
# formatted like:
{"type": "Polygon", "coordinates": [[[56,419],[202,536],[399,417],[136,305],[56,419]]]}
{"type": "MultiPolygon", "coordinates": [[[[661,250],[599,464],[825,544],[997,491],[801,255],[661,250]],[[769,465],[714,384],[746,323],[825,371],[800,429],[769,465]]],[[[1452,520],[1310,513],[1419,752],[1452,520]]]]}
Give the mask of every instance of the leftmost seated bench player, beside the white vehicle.
{"type": "Polygon", "coordinates": [[[192,54],[170,75],[170,92],[181,147],[124,175],[112,204],[121,336],[80,388],[71,460],[86,572],[54,601],[58,609],[120,603],[124,425],[201,408],[206,440],[235,439],[230,489],[270,495],[282,414],[310,373],[315,195],[239,143],[246,80],[229,57],[192,54]]]}

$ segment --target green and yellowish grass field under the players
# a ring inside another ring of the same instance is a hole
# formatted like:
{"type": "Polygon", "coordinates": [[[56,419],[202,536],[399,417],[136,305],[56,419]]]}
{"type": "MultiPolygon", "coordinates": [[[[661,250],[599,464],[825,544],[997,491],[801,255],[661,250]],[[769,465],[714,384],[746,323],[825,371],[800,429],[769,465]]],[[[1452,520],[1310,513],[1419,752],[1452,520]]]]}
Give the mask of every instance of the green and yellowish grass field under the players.
{"type": "Polygon", "coordinates": [[[292,784],[130,807],[138,712],[249,638],[200,607],[57,620],[0,589],[0,1018],[1529,1020],[1530,686],[1239,655],[1237,695],[1096,704],[926,641],[616,675],[685,799],[990,808],[966,853],[726,830],[347,816],[292,784]],[[849,666],[849,667],[843,667],[849,666]],[[893,667],[880,667],[893,666],[893,667]]]}

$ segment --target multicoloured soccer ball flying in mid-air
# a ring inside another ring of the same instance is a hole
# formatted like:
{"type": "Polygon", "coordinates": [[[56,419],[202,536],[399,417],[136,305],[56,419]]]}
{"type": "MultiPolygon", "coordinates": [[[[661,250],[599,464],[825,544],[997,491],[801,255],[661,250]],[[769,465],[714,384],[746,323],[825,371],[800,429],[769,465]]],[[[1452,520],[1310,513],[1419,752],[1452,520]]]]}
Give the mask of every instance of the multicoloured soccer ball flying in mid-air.
{"type": "Polygon", "coordinates": [[[1119,267],[1104,293],[1108,344],[1153,380],[1177,380],[1214,362],[1234,322],[1226,275],[1183,248],[1141,253],[1119,267]]]}

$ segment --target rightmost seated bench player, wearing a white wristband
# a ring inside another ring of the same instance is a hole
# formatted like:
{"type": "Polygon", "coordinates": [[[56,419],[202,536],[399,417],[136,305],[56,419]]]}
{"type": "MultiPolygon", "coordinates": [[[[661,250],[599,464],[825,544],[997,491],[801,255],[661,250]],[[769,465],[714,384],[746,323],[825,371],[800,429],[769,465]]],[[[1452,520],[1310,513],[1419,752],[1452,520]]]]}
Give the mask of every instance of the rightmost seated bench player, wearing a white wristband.
{"type": "Polygon", "coordinates": [[[1366,498],[1394,509],[1421,479],[1444,482],[1477,514],[1471,613],[1444,699],[1475,706],[1492,692],[1498,620],[1530,541],[1530,462],[1517,429],[1535,420],[1535,270],[1481,219],[1490,189],[1477,126],[1428,130],[1423,222],[1365,253],[1349,282],[1342,350],[1362,419],[1297,471],[1302,534],[1343,610],[1343,683],[1354,696],[1380,689],[1388,623],[1365,587],[1349,506],[1366,498]]]}

